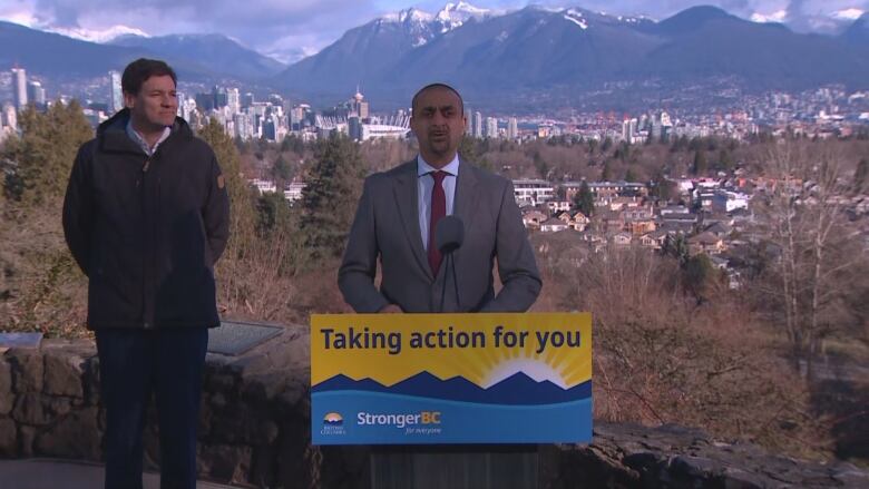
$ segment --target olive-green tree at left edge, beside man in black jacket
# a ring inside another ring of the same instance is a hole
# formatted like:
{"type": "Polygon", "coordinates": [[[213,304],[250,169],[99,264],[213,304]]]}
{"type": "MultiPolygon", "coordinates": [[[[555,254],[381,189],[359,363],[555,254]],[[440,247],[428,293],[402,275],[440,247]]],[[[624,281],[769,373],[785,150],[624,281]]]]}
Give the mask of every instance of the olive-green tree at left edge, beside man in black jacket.
{"type": "Polygon", "coordinates": [[[25,204],[42,204],[66,192],[79,146],[94,137],[76,100],[57,101],[40,114],[29,106],[19,115],[21,138],[7,144],[3,160],[13,162],[4,194],[25,204]]]}

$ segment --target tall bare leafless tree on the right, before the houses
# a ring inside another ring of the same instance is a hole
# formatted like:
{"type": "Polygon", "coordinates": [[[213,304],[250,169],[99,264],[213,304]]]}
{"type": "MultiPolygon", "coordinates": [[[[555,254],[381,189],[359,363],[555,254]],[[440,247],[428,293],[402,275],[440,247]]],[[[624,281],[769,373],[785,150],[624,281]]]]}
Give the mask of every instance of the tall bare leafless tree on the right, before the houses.
{"type": "Polygon", "coordinates": [[[794,366],[804,361],[808,376],[821,341],[846,322],[841,304],[865,260],[848,252],[855,237],[843,227],[841,196],[851,184],[833,148],[805,140],[775,145],[765,166],[777,185],[759,208],[777,256],[762,267],[758,295],[791,343],[794,366]]]}

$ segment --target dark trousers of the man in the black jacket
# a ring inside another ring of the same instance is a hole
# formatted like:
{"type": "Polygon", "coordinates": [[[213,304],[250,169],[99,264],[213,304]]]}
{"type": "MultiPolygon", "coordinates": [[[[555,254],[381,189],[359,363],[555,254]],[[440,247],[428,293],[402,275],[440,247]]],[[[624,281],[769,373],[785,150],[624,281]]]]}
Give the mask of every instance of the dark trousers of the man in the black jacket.
{"type": "Polygon", "coordinates": [[[98,330],[106,408],[106,489],[141,488],[141,434],[152,392],[160,441],[160,488],[196,487],[196,429],[206,327],[98,330]]]}

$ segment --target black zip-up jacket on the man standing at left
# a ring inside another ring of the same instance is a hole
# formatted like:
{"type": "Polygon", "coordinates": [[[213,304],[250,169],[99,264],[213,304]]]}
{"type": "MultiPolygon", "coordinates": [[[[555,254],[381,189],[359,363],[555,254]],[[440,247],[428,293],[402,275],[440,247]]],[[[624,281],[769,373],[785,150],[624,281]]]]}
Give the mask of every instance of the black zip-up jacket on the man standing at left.
{"type": "Polygon", "coordinates": [[[148,157],[121,110],[81,146],[64,232],[89,278],[88,327],[217,326],[214,264],[230,199],[212,148],[175,119],[148,157]]]}

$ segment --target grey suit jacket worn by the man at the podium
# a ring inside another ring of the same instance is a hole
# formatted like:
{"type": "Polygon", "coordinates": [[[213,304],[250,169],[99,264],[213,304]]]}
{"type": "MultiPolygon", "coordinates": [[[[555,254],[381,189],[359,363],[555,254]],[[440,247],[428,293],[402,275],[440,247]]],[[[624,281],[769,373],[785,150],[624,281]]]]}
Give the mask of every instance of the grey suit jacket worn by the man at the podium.
{"type": "Polygon", "coordinates": [[[453,253],[457,283],[445,258],[432,276],[419,229],[417,159],[365,179],[338,285],[354,311],[398,304],[404,312],[524,312],[540,292],[540,274],[514,197],[512,183],[460,162],[453,215],[465,242],[453,253]],[[504,287],[495,295],[492,268],[504,287]],[[382,280],[374,286],[380,258],[382,280]],[[455,286],[458,285],[456,301],[455,286]]]}

